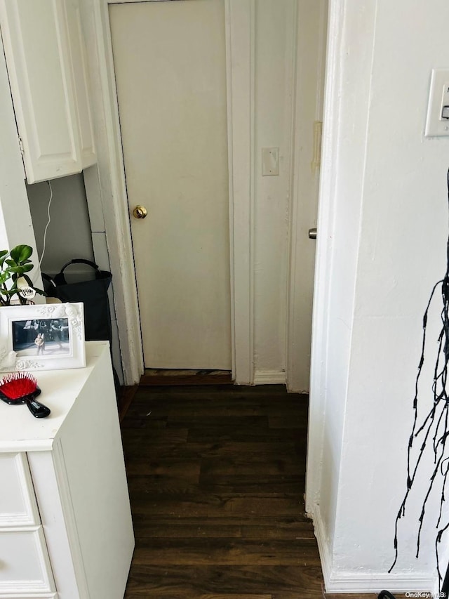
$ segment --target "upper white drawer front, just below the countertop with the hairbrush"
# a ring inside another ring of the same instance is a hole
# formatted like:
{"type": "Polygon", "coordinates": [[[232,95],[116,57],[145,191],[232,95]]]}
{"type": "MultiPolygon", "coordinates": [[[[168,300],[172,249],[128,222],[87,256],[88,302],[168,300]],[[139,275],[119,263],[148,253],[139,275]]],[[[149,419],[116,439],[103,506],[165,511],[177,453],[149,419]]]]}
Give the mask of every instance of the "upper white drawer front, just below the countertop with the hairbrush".
{"type": "Polygon", "coordinates": [[[0,528],[39,525],[26,454],[0,454],[0,480],[0,528]]]}

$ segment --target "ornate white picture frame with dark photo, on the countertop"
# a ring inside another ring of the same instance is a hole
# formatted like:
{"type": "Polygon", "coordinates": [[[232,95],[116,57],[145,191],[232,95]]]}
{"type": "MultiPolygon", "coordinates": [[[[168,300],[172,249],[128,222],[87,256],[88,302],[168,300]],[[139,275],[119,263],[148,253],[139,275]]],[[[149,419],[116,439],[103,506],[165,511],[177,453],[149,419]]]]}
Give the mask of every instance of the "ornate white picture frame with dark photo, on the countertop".
{"type": "Polygon", "coordinates": [[[0,308],[0,371],[86,366],[83,303],[0,308]]]}

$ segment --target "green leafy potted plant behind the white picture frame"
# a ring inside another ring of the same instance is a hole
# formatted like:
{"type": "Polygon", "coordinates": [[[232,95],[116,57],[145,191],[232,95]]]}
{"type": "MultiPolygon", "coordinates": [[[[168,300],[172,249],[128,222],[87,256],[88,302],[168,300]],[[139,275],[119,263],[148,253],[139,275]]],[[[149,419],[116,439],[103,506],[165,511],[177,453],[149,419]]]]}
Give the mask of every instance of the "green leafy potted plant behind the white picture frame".
{"type": "Polygon", "coordinates": [[[29,303],[36,294],[45,292],[34,287],[27,275],[34,268],[29,259],[33,249],[29,245],[18,245],[11,250],[0,250],[0,306],[29,303]]]}

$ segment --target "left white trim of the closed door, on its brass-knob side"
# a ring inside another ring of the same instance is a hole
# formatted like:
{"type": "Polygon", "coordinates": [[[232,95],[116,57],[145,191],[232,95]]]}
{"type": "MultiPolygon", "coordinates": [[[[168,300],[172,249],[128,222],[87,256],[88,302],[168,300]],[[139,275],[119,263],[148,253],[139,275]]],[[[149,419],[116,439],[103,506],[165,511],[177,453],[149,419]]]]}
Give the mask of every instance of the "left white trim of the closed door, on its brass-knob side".
{"type": "Polygon", "coordinates": [[[98,149],[98,164],[85,173],[86,196],[95,232],[107,235],[123,377],[132,385],[143,373],[143,353],[107,2],[81,0],[81,18],[98,149]]]}

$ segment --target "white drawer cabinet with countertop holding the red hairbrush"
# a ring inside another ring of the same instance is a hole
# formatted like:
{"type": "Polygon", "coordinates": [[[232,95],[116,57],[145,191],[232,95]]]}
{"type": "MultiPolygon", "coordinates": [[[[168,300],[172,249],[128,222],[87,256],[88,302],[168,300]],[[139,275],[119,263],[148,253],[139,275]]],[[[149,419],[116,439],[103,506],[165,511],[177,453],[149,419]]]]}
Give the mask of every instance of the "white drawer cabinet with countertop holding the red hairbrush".
{"type": "Polygon", "coordinates": [[[122,599],[134,537],[107,343],[39,373],[37,420],[0,402],[0,599],[122,599]]]}

